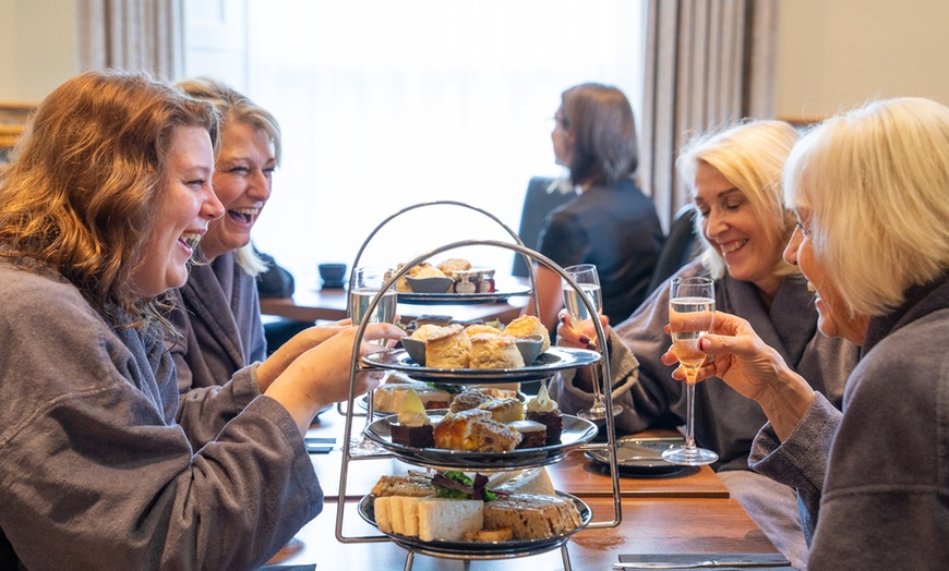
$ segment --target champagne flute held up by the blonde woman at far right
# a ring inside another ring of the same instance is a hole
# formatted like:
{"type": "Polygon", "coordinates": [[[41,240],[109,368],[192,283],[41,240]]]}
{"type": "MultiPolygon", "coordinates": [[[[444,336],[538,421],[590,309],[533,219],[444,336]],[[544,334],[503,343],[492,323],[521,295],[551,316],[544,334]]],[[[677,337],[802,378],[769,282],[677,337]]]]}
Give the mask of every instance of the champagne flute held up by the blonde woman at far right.
{"type": "Polygon", "coordinates": [[[714,281],[709,278],[674,278],[669,292],[669,329],[685,373],[685,446],[662,452],[674,464],[698,466],[711,464],[719,455],[695,446],[695,377],[705,363],[698,350],[699,339],[712,328],[716,311],[714,281]]]}

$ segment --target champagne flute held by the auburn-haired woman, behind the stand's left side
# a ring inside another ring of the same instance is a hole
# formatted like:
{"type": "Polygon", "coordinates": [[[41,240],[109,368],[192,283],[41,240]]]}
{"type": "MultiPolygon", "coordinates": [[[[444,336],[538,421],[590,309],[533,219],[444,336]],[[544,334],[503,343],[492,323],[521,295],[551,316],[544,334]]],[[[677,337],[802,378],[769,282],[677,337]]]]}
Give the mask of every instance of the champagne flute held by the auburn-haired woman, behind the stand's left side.
{"type": "MultiPolygon", "coordinates": [[[[369,313],[369,307],[372,301],[382,291],[386,280],[389,277],[389,269],[363,267],[357,268],[352,272],[349,282],[349,317],[352,320],[353,327],[359,327],[363,320],[370,324],[392,324],[396,318],[396,290],[395,284],[389,286],[385,294],[383,294],[375,311],[369,313]]],[[[372,341],[373,343],[385,347],[385,341],[372,341]]],[[[349,441],[350,453],[356,454],[373,454],[381,451],[381,448],[365,437],[365,430],[373,421],[372,393],[365,393],[367,412],[365,425],[362,428],[361,438],[351,438],[349,441]]]]}

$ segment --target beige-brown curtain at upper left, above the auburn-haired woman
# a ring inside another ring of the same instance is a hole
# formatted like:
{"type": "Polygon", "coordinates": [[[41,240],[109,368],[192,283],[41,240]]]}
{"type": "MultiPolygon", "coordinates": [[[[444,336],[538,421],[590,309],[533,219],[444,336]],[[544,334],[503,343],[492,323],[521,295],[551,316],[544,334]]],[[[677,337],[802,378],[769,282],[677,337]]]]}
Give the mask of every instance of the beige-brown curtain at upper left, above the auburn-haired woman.
{"type": "Polygon", "coordinates": [[[183,0],[76,0],[80,64],[176,80],[184,69],[183,0]]]}

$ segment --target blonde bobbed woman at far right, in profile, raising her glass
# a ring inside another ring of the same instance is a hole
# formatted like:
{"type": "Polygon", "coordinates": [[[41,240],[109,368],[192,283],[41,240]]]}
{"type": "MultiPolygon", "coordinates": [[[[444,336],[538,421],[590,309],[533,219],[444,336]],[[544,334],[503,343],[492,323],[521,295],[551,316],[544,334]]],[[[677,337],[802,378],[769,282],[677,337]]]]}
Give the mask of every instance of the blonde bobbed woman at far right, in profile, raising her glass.
{"type": "Polygon", "coordinates": [[[816,292],[820,331],[862,345],[842,413],[744,319],[717,313],[700,341],[700,376],[768,417],[749,464],[796,488],[812,571],[949,561],[947,190],[949,108],[927,99],[831,118],[788,160],[784,257],[816,292]]]}

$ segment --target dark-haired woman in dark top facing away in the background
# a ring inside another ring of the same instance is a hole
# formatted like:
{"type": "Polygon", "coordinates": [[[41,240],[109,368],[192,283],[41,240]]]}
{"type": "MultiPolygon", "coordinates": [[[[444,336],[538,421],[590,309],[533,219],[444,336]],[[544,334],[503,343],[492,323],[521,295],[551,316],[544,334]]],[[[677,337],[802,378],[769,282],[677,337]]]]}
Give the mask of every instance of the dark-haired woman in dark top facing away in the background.
{"type": "MultiPolygon", "coordinates": [[[[593,264],[603,314],[620,323],[646,297],[663,234],[652,201],[636,185],[639,166],[633,108],[615,87],[570,87],[551,133],[557,165],[579,196],[548,215],[537,251],[561,267],[593,264]]],[[[540,320],[553,330],[564,306],[560,276],[536,264],[540,320]]],[[[532,311],[532,305],[529,305],[532,311]]]]}

